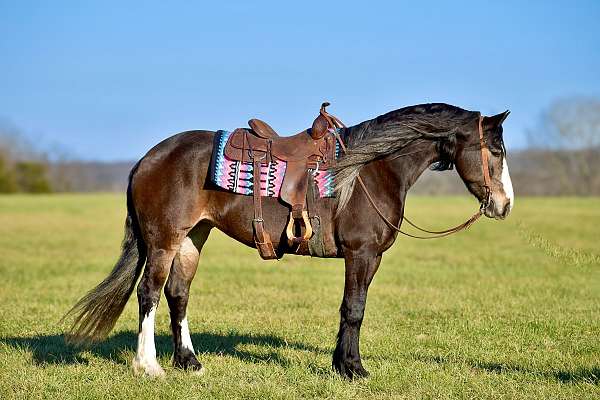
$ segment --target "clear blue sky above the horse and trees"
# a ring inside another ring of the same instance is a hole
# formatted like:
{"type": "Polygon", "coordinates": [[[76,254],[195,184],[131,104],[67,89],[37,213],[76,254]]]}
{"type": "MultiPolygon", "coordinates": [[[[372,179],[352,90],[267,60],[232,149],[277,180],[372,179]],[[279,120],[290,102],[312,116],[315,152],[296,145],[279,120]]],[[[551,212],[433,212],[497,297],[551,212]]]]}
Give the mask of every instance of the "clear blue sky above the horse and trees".
{"type": "Polygon", "coordinates": [[[600,1],[0,0],[0,121],[122,160],[251,117],[296,132],[323,100],[347,124],[447,102],[510,109],[510,150],[554,99],[600,96],[599,21],[600,1]]]}

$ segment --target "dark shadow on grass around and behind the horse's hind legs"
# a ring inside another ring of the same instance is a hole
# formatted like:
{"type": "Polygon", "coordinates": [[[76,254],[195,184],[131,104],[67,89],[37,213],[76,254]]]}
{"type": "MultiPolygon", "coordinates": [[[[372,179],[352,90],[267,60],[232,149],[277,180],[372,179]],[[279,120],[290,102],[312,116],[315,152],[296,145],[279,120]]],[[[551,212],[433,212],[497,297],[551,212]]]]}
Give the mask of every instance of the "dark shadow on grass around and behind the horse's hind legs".
{"type": "MultiPolygon", "coordinates": [[[[155,341],[159,357],[172,354],[173,348],[170,335],[157,335],[155,341]]],[[[315,346],[298,342],[288,342],[277,336],[248,335],[238,332],[224,334],[196,333],[192,334],[192,341],[196,351],[200,353],[200,361],[202,361],[202,353],[208,353],[232,356],[245,362],[268,362],[288,366],[290,364],[289,361],[278,353],[278,350],[281,348],[292,348],[312,353],[329,353],[329,351],[315,346]],[[257,345],[272,349],[272,351],[252,352],[239,349],[239,346],[243,345],[257,345]]],[[[88,360],[84,357],[83,353],[88,351],[106,360],[126,364],[131,361],[127,358],[130,354],[126,354],[126,352],[135,351],[137,335],[133,332],[119,332],[90,347],[68,345],[65,343],[63,335],[4,337],[0,338],[0,343],[6,344],[15,350],[30,351],[36,365],[87,364],[88,360]]]]}

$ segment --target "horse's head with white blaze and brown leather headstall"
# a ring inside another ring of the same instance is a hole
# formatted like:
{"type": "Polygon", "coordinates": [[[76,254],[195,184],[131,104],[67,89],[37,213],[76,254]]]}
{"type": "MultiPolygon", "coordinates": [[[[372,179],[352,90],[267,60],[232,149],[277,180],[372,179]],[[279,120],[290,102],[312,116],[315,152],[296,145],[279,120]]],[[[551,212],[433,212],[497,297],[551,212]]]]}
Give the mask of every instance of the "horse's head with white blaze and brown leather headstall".
{"type": "Polygon", "coordinates": [[[456,170],[489,218],[506,218],[515,201],[502,139],[502,123],[508,114],[505,111],[481,118],[465,132],[462,145],[457,146],[456,170]],[[484,176],[484,168],[489,171],[489,178],[484,176]]]}

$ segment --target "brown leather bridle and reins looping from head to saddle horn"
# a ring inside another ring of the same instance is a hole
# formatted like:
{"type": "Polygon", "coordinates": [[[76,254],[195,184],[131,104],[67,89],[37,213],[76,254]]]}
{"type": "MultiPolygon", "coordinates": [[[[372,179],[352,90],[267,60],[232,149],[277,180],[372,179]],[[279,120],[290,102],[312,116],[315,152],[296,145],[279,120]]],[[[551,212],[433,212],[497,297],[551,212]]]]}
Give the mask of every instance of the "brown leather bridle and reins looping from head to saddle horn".
{"type": "MultiPolygon", "coordinates": [[[[338,141],[338,143],[340,144],[340,147],[342,148],[342,150],[344,151],[344,153],[347,153],[348,149],[346,147],[346,145],[344,144],[344,141],[342,140],[341,136],[338,133],[339,129],[342,128],[346,128],[346,125],[344,125],[344,123],[342,121],[340,121],[337,117],[335,117],[334,115],[329,114],[326,110],[325,107],[327,107],[329,105],[329,103],[323,103],[323,105],[321,106],[321,115],[323,115],[326,119],[327,119],[327,123],[329,124],[329,126],[331,127],[331,131],[332,133],[335,135],[336,140],[338,141]]],[[[468,220],[466,220],[465,222],[463,222],[460,225],[454,226],[452,228],[448,228],[448,229],[444,229],[441,231],[433,231],[433,230],[427,230],[424,228],[419,227],[418,225],[416,225],[415,223],[413,223],[412,221],[410,221],[406,216],[402,216],[398,226],[396,226],[394,223],[392,223],[385,215],[383,215],[383,213],[381,212],[381,210],[379,209],[379,207],[377,206],[377,204],[375,203],[375,200],[373,199],[373,196],[371,196],[371,193],[369,192],[369,190],[367,189],[367,186],[365,185],[364,181],[362,180],[362,178],[360,177],[360,175],[358,175],[356,177],[356,180],[358,181],[358,184],[360,185],[360,187],[363,189],[365,196],[367,196],[367,200],[369,200],[369,203],[371,203],[371,206],[373,207],[373,209],[375,209],[375,211],[377,212],[377,214],[379,214],[379,216],[381,217],[381,219],[386,223],[386,225],[388,227],[390,227],[392,230],[401,233],[402,235],[414,238],[414,239],[437,239],[437,238],[441,238],[444,236],[448,236],[451,235],[453,233],[457,233],[460,232],[464,229],[467,229],[468,227],[470,227],[471,225],[473,225],[478,219],[479,217],[481,217],[483,215],[483,213],[485,212],[485,209],[489,206],[490,201],[491,201],[491,195],[492,195],[492,190],[491,190],[491,182],[492,179],[490,177],[490,170],[489,170],[489,156],[488,156],[488,151],[487,150],[487,144],[485,142],[485,139],[483,137],[483,116],[480,114],[479,118],[478,118],[478,122],[477,122],[477,129],[479,131],[479,149],[481,152],[481,169],[483,172],[483,188],[485,190],[485,195],[483,197],[483,199],[481,200],[480,204],[479,204],[479,210],[473,214],[468,220]],[[424,232],[424,233],[429,233],[432,236],[419,236],[419,235],[413,235],[411,233],[405,232],[403,230],[400,229],[400,226],[402,225],[402,221],[406,221],[408,222],[409,225],[411,225],[413,228],[424,232]]]]}

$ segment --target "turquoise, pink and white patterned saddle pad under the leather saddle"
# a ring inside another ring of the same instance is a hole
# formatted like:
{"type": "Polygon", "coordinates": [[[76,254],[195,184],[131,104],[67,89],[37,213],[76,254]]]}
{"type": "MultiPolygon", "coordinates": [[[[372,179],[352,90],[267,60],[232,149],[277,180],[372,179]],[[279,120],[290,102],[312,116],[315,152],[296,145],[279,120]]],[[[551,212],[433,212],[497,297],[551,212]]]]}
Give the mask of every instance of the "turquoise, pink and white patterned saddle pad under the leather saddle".
{"type": "MultiPolygon", "coordinates": [[[[250,162],[234,161],[224,154],[225,144],[231,132],[217,131],[210,163],[210,177],[215,185],[232,193],[252,196],[254,182],[253,165],[250,162]]],[[[336,158],[339,156],[338,144],[336,143],[336,158]]],[[[260,182],[261,196],[279,197],[281,184],[285,176],[287,163],[285,161],[273,161],[267,165],[261,165],[260,182]]],[[[334,197],[334,178],[330,170],[311,171],[319,188],[320,197],[334,197]]]]}

